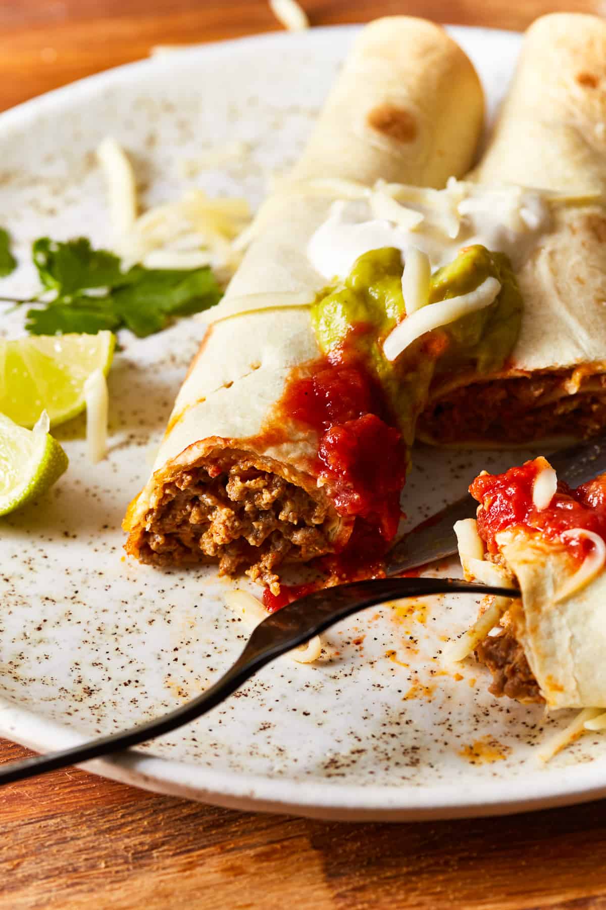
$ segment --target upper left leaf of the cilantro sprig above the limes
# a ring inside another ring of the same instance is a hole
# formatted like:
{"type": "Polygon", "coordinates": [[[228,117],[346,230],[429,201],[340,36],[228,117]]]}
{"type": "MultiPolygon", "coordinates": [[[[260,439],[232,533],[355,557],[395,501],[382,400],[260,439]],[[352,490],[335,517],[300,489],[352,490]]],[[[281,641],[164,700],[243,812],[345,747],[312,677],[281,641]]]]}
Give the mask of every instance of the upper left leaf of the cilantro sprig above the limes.
{"type": "Polygon", "coordinates": [[[120,258],[106,249],[93,249],[87,238],[57,243],[48,237],[35,240],[32,258],[46,290],[57,299],[89,288],[115,288],[128,283],[120,258]]]}

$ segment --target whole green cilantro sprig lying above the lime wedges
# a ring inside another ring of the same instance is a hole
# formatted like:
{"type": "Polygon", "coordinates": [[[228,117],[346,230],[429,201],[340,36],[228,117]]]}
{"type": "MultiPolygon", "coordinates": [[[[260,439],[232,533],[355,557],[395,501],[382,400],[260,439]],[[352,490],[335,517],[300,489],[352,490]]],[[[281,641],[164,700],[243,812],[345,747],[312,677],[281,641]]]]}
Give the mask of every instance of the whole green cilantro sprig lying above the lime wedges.
{"type": "MultiPolygon", "coordinates": [[[[9,246],[8,234],[0,229],[0,276],[10,274],[16,265],[9,246]]],[[[123,271],[119,257],[92,248],[86,238],[66,242],[40,238],[32,257],[39,292],[26,300],[1,299],[30,305],[25,328],[33,335],[94,335],[102,329],[126,328],[144,338],[175,317],[214,307],[222,296],[208,266],[185,270],[135,265],[123,271]]]]}

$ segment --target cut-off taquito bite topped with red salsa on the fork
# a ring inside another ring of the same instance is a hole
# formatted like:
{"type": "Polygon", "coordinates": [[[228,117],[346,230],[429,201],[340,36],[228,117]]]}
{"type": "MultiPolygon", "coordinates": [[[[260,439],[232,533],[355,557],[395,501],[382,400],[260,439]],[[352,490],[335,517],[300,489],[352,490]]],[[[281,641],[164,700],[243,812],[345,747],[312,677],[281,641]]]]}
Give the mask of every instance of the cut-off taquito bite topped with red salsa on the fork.
{"type": "Polygon", "coordinates": [[[537,458],[483,471],[470,491],[477,520],[455,526],[466,577],[502,579],[522,598],[492,602],[464,650],[491,670],[495,695],[606,706],[606,474],[572,490],[537,458]]]}

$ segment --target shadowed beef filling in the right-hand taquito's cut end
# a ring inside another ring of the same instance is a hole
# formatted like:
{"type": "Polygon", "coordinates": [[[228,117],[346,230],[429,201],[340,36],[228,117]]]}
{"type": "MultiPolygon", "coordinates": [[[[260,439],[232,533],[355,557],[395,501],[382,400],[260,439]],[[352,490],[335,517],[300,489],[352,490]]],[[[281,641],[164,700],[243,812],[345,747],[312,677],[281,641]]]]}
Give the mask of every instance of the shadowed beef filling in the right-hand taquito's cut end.
{"type": "Polygon", "coordinates": [[[606,377],[594,377],[591,391],[556,398],[567,380],[558,376],[520,377],[474,383],[432,404],[419,420],[419,432],[441,443],[490,440],[530,442],[550,436],[581,439],[606,425],[606,377]],[[604,393],[595,389],[599,382],[604,393]]]}

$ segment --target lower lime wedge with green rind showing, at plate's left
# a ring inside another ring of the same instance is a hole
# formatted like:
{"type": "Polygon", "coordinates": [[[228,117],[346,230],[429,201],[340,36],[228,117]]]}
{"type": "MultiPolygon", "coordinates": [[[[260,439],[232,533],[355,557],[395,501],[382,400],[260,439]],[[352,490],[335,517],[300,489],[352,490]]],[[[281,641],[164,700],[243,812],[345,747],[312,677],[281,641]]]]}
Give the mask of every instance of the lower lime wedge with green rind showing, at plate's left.
{"type": "Polygon", "coordinates": [[[66,468],[65,451],[49,433],[24,430],[0,414],[0,515],[44,493],[66,468]]]}

